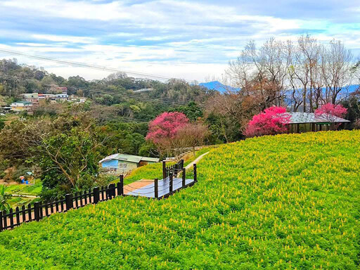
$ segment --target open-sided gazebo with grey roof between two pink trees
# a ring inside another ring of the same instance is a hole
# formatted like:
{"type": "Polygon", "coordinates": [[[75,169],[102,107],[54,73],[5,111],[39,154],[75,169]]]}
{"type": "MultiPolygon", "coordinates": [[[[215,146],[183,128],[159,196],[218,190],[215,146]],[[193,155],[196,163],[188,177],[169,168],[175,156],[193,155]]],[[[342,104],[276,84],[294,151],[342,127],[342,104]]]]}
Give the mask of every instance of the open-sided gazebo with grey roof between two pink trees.
{"type": "Polygon", "coordinates": [[[288,113],[291,117],[287,124],[289,133],[300,133],[301,131],[329,130],[332,124],[350,122],[333,115],[315,115],[314,113],[288,113]]]}

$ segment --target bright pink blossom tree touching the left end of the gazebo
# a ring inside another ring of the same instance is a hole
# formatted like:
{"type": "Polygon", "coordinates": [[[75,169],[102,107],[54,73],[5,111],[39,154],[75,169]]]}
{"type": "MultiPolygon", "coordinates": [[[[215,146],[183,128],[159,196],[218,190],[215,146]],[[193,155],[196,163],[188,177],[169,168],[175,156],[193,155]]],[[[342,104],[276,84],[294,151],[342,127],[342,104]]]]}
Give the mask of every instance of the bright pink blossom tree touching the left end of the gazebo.
{"type": "Polygon", "coordinates": [[[252,117],[244,135],[254,137],[284,133],[288,130],[286,124],[290,122],[290,118],[290,114],[286,113],[286,108],[276,106],[267,108],[252,117]]]}

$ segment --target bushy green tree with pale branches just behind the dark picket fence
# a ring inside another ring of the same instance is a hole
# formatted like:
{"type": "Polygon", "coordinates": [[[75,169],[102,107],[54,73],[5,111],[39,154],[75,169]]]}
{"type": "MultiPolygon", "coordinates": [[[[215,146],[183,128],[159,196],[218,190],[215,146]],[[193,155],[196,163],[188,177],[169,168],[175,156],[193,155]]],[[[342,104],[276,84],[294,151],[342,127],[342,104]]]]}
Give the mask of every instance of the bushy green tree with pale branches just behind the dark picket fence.
{"type": "Polygon", "coordinates": [[[38,148],[43,194],[91,187],[98,174],[99,148],[101,143],[81,128],[45,139],[38,148]]]}

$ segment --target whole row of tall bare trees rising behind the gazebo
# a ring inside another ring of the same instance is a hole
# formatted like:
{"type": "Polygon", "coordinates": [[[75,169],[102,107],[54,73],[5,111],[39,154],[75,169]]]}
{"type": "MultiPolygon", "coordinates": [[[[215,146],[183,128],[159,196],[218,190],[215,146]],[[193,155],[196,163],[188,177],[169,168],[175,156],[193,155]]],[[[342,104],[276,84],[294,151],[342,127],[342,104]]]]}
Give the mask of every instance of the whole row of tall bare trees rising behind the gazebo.
{"type": "Polygon", "coordinates": [[[355,74],[352,65],[352,53],[340,41],[323,45],[306,35],[295,44],[269,39],[259,49],[250,41],[229,62],[226,74],[244,96],[256,96],[262,110],[291,105],[294,111],[302,107],[314,112],[324,103],[340,103],[347,97],[355,74]]]}

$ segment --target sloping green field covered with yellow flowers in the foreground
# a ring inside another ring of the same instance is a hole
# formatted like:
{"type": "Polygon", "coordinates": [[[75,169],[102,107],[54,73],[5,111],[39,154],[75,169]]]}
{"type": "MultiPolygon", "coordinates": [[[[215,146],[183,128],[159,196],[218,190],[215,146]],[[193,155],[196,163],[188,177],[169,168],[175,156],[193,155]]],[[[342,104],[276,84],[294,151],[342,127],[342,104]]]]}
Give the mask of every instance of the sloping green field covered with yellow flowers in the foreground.
{"type": "Polygon", "coordinates": [[[116,198],[0,233],[0,269],[358,269],[360,131],[221,146],[167,200],[116,198]]]}

